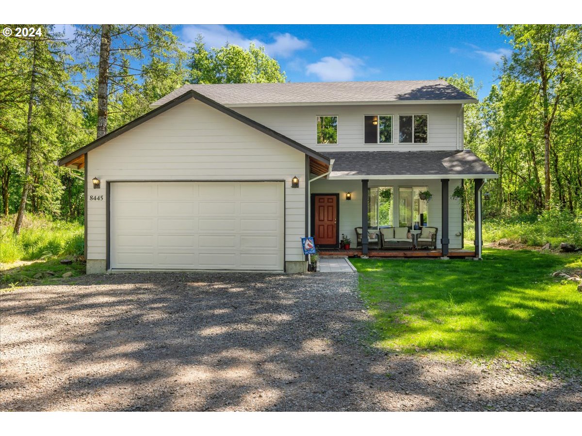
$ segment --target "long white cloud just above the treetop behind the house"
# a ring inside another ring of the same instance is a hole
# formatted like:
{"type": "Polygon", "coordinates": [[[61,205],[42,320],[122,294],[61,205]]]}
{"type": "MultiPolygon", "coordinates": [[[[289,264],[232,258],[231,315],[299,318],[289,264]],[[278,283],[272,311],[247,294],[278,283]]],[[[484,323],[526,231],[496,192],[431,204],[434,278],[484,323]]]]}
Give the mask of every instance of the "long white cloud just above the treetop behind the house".
{"type": "Polygon", "coordinates": [[[271,34],[272,42],[265,42],[257,39],[244,37],[236,30],[230,30],[222,24],[200,24],[184,26],[182,28],[182,42],[187,47],[192,47],[198,35],[204,37],[204,44],[207,47],[222,47],[227,42],[229,44],[240,45],[240,47],[249,47],[253,43],[259,47],[265,47],[269,56],[280,56],[288,58],[294,52],[309,47],[309,41],[300,40],[290,33],[271,34]]]}

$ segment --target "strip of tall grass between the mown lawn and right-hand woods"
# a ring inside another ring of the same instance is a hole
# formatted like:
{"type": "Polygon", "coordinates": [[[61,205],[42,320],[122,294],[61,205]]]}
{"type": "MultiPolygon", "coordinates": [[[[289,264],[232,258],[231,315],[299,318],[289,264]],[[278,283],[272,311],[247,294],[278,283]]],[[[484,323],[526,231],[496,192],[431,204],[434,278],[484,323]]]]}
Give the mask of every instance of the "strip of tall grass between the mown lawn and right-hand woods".
{"type": "MultiPolygon", "coordinates": [[[[582,246],[582,215],[548,210],[538,216],[485,218],[483,240],[494,242],[503,238],[529,246],[542,246],[546,242],[553,248],[559,248],[560,242],[582,246]]],[[[465,239],[473,241],[474,223],[465,223],[465,239]]]]}

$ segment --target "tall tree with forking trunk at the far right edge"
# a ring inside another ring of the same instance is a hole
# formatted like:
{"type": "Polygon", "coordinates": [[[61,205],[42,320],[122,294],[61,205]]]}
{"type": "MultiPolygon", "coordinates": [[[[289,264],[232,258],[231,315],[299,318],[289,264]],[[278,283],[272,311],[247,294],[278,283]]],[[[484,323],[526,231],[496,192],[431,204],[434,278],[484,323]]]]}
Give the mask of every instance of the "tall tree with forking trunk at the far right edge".
{"type": "MultiPolygon", "coordinates": [[[[579,68],[582,26],[579,24],[513,24],[501,26],[513,47],[503,62],[503,73],[538,85],[544,138],[544,205],[551,201],[551,136],[560,100],[565,97],[566,77],[579,68]]],[[[559,177],[559,174],[554,174],[559,177]]]]}

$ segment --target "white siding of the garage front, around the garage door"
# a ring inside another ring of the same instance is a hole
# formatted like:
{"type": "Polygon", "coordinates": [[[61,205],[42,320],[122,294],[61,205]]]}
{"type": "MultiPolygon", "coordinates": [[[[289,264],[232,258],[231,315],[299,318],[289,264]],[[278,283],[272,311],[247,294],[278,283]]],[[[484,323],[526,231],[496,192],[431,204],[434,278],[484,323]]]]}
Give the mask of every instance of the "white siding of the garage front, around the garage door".
{"type": "Polygon", "coordinates": [[[88,199],[87,259],[105,259],[108,180],[284,180],[285,260],[304,260],[304,153],[204,103],[181,103],[88,152],[86,171],[88,195],[103,195],[88,199]],[[293,176],[299,188],[291,188],[293,176]]]}

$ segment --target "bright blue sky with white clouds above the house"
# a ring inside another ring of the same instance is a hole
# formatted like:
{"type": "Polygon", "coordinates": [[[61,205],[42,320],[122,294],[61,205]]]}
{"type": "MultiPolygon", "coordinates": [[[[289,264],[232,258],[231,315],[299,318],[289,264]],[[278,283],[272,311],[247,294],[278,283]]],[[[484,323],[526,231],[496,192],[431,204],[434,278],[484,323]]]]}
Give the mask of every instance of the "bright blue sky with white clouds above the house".
{"type": "Polygon", "coordinates": [[[479,98],[496,81],[495,63],[510,53],[495,25],[182,25],[191,45],[198,33],[208,45],[226,41],[264,45],[289,81],[422,80],[454,73],[482,82],[479,98]]]}

